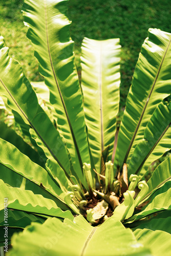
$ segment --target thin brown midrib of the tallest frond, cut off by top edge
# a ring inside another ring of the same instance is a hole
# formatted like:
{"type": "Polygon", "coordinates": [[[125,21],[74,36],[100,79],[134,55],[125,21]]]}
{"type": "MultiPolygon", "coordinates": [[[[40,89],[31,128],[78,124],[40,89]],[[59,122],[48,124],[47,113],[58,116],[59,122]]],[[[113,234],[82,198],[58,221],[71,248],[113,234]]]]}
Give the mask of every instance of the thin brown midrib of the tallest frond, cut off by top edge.
{"type": "Polygon", "coordinates": [[[51,56],[51,52],[50,52],[50,45],[49,45],[48,17],[47,17],[47,2],[46,2],[46,0],[44,0],[44,6],[45,6],[46,37],[47,37],[46,39],[47,39],[47,47],[48,47],[48,53],[49,53],[51,68],[52,68],[53,76],[54,76],[54,79],[55,79],[56,87],[57,87],[58,92],[59,92],[59,96],[60,96],[60,100],[61,100],[61,103],[62,103],[62,106],[63,106],[63,110],[65,111],[67,121],[68,121],[68,124],[69,124],[69,127],[70,127],[70,131],[71,131],[72,138],[73,138],[74,145],[75,145],[75,149],[76,149],[76,152],[77,152],[79,164],[80,164],[80,167],[81,167],[81,170],[82,170],[83,164],[82,164],[81,156],[80,156],[80,153],[79,153],[78,145],[77,145],[77,142],[76,142],[76,139],[75,139],[75,135],[74,135],[74,132],[73,132],[73,129],[72,129],[70,119],[69,119],[67,108],[66,108],[65,102],[63,100],[62,93],[61,93],[60,88],[59,88],[59,83],[58,83],[58,80],[57,80],[57,77],[56,77],[56,74],[55,74],[55,70],[54,70],[54,67],[53,67],[53,61],[52,61],[52,56],[51,56]]]}

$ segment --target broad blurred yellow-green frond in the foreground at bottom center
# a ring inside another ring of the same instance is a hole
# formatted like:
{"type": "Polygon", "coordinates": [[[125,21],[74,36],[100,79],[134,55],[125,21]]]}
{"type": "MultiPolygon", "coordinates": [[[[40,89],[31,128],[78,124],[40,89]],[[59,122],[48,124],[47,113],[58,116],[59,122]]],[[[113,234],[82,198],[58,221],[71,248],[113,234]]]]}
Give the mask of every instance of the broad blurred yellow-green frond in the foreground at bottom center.
{"type": "Polygon", "coordinates": [[[17,256],[37,255],[40,251],[51,256],[151,255],[148,249],[137,243],[130,229],[111,218],[97,228],[82,216],[76,217],[74,222],[65,219],[62,223],[53,218],[42,225],[33,223],[19,236],[15,235],[12,244],[9,255],[17,256]]]}

